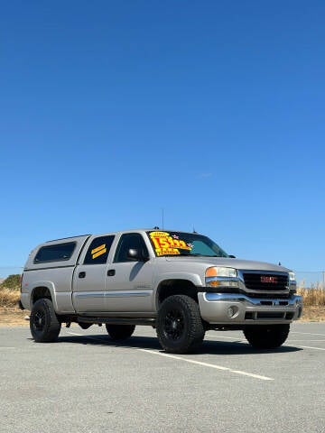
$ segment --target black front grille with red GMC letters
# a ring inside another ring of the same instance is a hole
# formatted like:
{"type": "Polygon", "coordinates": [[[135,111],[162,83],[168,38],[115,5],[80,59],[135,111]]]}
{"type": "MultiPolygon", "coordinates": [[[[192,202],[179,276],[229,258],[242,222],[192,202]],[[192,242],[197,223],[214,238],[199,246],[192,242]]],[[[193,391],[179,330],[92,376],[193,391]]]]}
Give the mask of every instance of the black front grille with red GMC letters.
{"type": "Polygon", "coordinates": [[[287,290],[288,275],[279,273],[243,273],[244,282],[250,290],[287,290]]]}

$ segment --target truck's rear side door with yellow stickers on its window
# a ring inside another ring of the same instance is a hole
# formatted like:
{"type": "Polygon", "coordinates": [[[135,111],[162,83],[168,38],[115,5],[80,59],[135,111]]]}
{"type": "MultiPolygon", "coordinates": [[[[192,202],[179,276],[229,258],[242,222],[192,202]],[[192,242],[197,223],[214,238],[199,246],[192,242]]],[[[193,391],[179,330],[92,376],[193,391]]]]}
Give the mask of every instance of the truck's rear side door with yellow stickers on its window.
{"type": "Polygon", "coordinates": [[[107,310],[105,285],[107,257],[114,235],[94,237],[81,256],[73,277],[73,306],[78,313],[100,313],[107,310]]]}

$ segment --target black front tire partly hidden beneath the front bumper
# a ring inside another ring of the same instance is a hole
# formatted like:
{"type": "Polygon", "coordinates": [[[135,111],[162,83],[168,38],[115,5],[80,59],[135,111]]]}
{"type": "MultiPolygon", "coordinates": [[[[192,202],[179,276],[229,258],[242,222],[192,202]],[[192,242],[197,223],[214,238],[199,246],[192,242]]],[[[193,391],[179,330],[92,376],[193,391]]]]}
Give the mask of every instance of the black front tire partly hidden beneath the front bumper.
{"type": "Polygon", "coordinates": [[[290,325],[261,325],[244,329],[244,336],[256,349],[274,349],[283,345],[289,335],[290,325]]]}

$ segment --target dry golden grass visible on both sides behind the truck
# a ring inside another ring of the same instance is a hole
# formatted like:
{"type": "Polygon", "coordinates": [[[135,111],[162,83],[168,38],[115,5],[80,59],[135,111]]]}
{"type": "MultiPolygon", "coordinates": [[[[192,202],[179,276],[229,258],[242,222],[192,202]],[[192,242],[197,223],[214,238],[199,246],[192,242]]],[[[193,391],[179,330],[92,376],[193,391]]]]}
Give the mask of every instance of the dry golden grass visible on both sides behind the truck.
{"type": "MultiPolygon", "coordinates": [[[[316,287],[311,289],[300,288],[297,291],[303,298],[302,320],[324,321],[325,290],[316,287]]],[[[22,311],[17,308],[19,297],[19,290],[0,287],[0,326],[28,326],[28,320],[25,317],[29,314],[29,311],[22,311]]]]}

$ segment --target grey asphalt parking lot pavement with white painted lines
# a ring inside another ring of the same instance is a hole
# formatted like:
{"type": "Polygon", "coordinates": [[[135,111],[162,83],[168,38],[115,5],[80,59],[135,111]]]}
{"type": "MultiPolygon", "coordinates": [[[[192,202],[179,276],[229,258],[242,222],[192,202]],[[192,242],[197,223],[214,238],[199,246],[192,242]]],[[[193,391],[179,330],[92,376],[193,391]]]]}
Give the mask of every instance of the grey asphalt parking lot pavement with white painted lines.
{"type": "Polygon", "coordinates": [[[210,331],[195,355],[165,354],[151,327],[120,345],[105,327],[51,344],[0,327],[0,431],[324,433],[325,323],[268,352],[210,331]]]}

